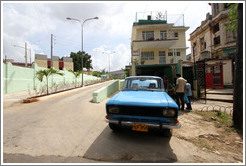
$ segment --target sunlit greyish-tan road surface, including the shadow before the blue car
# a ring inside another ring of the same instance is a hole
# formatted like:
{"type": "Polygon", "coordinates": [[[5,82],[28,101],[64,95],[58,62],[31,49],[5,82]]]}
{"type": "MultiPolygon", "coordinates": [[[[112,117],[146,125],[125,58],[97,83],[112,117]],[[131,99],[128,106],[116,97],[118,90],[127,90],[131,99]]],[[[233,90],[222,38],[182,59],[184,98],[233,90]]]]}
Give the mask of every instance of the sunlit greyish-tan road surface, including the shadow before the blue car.
{"type": "Polygon", "coordinates": [[[106,84],[4,108],[4,163],[176,162],[175,137],[109,129],[107,100],[91,102],[106,84]]]}

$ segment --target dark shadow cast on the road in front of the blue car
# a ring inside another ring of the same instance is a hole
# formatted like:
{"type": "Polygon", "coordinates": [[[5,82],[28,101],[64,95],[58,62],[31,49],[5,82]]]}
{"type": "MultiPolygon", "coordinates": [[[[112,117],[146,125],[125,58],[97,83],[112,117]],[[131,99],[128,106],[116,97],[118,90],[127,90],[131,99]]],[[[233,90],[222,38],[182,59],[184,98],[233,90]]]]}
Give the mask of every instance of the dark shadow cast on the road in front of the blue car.
{"type": "Polygon", "coordinates": [[[106,127],[86,151],[84,158],[128,163],[170,163],[177,161],[170,138],[159,133],[122,129],[112,132],[106,127]]]}

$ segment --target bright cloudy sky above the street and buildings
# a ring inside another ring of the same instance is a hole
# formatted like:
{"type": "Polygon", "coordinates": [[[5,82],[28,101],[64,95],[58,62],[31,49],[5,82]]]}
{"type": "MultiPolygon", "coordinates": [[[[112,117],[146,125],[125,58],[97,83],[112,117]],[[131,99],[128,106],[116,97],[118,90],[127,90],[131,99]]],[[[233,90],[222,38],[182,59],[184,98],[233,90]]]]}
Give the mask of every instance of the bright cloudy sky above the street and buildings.
{"type": "MultiPolygon", "coordinates": [[[[211,2],[211,1],[210,1],[211,2]]],[[[190,27],[186,32],[186,46],[189,34],[211,13],[208,1],[128,1],[128,2],[5,2],[1,3],[2,14],[2,57],[24,62],[27,42],[28,62],[34,54],[51,55],[51,34],[54,35],[53,55],[69,56],[81,50],[81,26],[79,22],[66,20],[67,17],[84,21],[84,51],[92,56],[94,70],[120,70],[131,60],[131,30],[137,12],[161,11],[167,15],[184,14],[184,24],[190,27]],[[13,47],[17,45],[17,47],[13,47]],[[103,53],[104,52],[104,53],[103,53]]],[[[177,21],[180,17],[177,17],[177,21]]],[[[182,18],[181,18],[182,20],[182,18]]],[[[187,49],[187,54],[190,49],[187,49]]]]}

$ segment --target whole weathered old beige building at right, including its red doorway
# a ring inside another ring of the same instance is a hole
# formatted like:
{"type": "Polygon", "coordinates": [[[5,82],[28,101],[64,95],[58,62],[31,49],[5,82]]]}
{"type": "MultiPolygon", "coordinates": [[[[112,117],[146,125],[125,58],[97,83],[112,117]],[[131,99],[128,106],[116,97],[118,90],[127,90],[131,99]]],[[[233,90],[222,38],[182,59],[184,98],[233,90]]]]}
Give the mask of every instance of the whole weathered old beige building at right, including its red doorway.
{"type": "Polygon", "coordinates": [[[233,84],[236,32],[226,30],[230,8],[227,3],[209,3],[211,14],[190,34],[192,61],[205,61],[207,88],[233,84]]]}

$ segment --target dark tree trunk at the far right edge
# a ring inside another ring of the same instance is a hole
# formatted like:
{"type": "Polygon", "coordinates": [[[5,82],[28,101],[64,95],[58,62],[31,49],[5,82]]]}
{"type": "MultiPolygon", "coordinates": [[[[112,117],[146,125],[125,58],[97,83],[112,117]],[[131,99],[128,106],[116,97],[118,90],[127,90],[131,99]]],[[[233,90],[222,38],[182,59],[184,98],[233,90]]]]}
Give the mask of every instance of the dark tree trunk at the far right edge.
{"type": "MultiPolygon", "coordinates": [[[[234,9],[237,15],[237,54],[235,56],[233,123],[236,128],[243,129],[243,4],[234,9]]],[[[235,12],[235,11],[234,11],[235,12]]]]}

